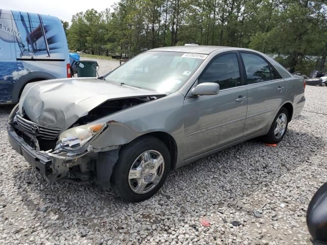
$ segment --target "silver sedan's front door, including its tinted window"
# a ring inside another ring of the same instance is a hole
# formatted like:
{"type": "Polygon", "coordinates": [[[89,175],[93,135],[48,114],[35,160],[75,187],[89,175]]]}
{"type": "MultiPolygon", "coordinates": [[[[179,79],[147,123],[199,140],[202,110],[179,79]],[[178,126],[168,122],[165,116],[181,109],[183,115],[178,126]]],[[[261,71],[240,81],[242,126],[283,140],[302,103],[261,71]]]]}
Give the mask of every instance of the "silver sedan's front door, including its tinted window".
{"type": "Polygon", "coordinates": [[[185,98],[184,159],[242,138],[247,91],[241,77],[236,52],[216,56],[204,69],[198,78],[198,84],[218,83],[220,91],[217,95],[185,98]]]}

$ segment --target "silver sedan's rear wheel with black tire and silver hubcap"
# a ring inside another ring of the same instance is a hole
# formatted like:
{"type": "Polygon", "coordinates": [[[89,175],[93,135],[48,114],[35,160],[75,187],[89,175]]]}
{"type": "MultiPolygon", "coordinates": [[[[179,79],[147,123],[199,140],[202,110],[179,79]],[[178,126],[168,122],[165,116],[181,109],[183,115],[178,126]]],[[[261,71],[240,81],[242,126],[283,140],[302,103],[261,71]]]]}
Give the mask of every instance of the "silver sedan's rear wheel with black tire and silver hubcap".
{"type": "Polygon", "coordinates": [[[264,140],[270,144],[279,143],[286,134],[288,122],[288,110],[285,107],[282,107],[275,116],[268,134],[263,137],[264,140]]]}

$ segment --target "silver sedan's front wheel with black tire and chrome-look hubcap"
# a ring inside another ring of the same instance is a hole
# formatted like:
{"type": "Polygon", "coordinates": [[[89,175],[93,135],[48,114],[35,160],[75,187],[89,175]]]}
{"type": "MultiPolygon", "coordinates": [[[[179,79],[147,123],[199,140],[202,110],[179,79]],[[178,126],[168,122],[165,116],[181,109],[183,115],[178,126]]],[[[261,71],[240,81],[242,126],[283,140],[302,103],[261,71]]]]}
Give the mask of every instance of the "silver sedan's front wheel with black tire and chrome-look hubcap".
{"type": "Polygon", "coordinates": [[[161,140],[145,136],[123,146],[111,175],[114,192],[128,202],[149,199],[164,184],[170,154],[161,140]]]}

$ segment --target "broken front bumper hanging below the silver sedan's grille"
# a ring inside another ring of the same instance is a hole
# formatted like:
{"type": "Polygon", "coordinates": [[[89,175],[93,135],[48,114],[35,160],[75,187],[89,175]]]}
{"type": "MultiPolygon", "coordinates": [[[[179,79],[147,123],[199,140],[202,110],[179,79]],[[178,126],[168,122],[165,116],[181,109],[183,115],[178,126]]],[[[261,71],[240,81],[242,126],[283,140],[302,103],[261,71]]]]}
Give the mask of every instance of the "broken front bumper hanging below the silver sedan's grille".
{"type": "Polygon", "coordinates": [[[46,152],[38,152],[32,148],[25,140],[17,135],[12,125],[7,128],[9,143],[12,148],[20,155],[24,156],[26,161],[40,173],[43,178],[50,184],[63,178],[69,171],[69,166],[76,159],[54,158],[46,154],[46,152]],[[48,156],[47,156],[48,155],[48,156]]]}

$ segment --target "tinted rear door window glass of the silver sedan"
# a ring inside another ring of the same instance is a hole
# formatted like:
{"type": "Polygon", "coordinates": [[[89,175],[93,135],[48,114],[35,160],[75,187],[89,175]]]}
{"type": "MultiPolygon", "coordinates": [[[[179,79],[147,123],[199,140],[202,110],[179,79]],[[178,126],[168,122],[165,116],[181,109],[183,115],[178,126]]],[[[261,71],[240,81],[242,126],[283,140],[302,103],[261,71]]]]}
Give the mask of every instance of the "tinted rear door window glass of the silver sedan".
{"type": "Polygon", "coordinates": [[[246,70],[245,84],[260,83],[279,79],[277,72],[258,55],[242,53],[246,70]]]}

